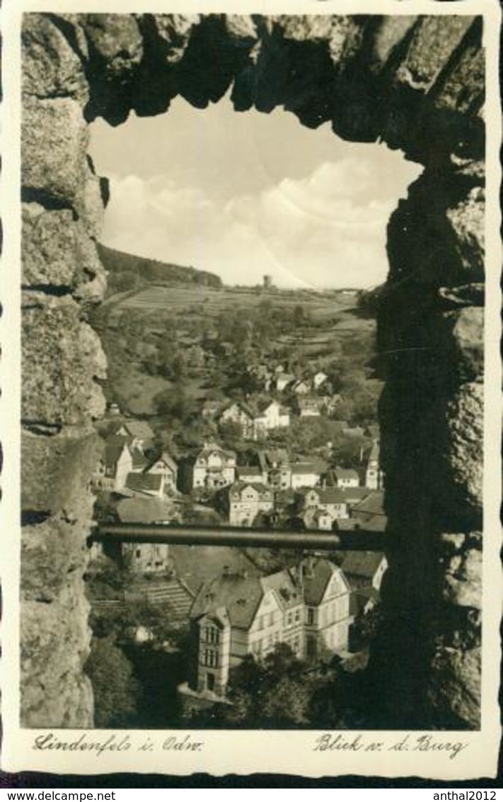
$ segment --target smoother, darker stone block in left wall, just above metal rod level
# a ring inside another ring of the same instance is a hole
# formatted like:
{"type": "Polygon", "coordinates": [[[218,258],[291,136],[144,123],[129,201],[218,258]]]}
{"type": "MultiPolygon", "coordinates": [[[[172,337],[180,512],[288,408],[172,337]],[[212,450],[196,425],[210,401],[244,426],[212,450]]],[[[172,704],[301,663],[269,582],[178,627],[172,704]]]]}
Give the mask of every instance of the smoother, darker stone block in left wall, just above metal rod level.
{"type": "Polygon", "coordinates": [[[51,515],[64,510],[71,519],[87,520],[93,503],[87,488],[102,451],[94,432],[63,429],[47,436],[22,431],[22,509],[51,515]]]}

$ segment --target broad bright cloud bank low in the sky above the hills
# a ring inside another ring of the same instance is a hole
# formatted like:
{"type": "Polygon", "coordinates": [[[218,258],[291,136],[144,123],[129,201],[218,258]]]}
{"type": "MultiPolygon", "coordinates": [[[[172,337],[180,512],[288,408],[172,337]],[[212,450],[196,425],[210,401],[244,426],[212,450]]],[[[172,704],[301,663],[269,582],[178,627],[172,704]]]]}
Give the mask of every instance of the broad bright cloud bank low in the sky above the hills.
{"type": "Polygon", "coordinates": [[[387,273],[396,195],[384,183],[372,160],[354,156],[227,202],[167,176],[111,176],[103,241],[227,283],[269,273],[279,286],[370,286],[387,273]]]}

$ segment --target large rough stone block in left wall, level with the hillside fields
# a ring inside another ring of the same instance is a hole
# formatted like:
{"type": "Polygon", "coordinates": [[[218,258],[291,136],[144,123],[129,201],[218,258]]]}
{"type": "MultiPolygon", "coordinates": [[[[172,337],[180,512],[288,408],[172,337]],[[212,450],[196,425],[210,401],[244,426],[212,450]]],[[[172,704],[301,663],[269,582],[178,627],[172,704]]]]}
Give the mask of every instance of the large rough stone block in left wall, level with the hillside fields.
{"type": "Polygon", "coordinates": [[[98,335],[71,298],[28,298],[22,316],[22,417],[78,425],[105,411],[107,360],[98,335]]]}

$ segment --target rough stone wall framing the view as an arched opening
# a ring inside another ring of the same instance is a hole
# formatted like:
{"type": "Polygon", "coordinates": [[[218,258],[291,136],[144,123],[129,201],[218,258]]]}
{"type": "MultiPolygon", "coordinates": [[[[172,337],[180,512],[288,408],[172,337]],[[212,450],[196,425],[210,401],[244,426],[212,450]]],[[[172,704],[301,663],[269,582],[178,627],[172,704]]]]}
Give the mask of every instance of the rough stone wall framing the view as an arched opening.
{"type": "Polygon", "coordinates": [[[380,422],[396,546],[370,672],[386,726],[477,727],[481,20],[27,14],[22,44],[23,724],[92,723],[82,573],[106,363],[87,319],[108,188],[87,125],[159,114],[175,95],[204,108],[231,87],[236,111],[280,105],[425,165],[388,228],[380,422]]]}

